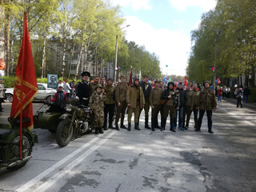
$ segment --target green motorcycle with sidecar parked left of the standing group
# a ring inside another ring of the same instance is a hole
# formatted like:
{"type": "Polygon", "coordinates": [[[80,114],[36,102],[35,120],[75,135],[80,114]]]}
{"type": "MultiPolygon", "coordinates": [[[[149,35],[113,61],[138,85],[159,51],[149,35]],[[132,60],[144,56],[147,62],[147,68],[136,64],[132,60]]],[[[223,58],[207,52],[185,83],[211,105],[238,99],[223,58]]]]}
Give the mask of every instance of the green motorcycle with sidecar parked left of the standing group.
{"type": "MultiPolygon", "coordinates": [[[[54,104],[45,102],[44,105],[52,106],[54,104]]],[[[92,131],[90,108],[78,105],[78,101],[75,99],[70,99],[63,110],[39,110],[34,115],[34,128],[56,133],[58,146],[67,146],[73,134],[81,135],[92,131]]]]}

